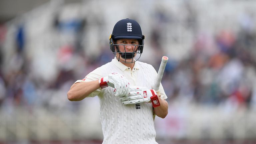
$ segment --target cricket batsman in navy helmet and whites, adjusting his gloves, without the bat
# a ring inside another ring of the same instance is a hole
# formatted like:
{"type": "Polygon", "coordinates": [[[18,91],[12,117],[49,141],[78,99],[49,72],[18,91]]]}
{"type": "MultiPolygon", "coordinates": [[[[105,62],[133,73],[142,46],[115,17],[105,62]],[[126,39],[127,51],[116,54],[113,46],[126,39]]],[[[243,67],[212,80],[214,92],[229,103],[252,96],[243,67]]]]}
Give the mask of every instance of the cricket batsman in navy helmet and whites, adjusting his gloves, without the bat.
{"type": "Polygon", "coordinates": [[[153,89],[156,70],[138,61],[144,38],[135,20],[118,21],[109,37],[112,61],[77,80],[67,93],[70,101],[99,97],[103,144],[157,144],[154,115],[165,118],[168,103],[161,84],[153,89]]]}

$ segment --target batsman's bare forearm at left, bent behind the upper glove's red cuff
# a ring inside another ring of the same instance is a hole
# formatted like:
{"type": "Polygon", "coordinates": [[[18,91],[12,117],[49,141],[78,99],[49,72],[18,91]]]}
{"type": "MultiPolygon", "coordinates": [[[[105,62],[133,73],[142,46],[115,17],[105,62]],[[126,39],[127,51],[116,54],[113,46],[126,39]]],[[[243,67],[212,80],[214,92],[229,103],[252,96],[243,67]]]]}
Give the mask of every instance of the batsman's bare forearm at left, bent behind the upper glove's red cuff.
{"type": "Polygon", "coordinates": [[[89,94],[97,90],[99,87],[99,81],[91,82],[79,82],[71,86],[67,93],[68,99],[70,101],[80,101],[86,98],[89,94]]]}

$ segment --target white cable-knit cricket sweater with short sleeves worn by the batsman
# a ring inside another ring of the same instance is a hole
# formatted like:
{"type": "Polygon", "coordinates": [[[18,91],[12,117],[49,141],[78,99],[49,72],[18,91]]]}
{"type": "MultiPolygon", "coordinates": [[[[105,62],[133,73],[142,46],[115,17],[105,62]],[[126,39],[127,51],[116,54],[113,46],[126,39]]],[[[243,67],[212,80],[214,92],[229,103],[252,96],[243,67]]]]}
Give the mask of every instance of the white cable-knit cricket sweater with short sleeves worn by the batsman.
{"type": "MultiPolygon", "coordinates": [[[[153,88],[157,75],[153,66],[137,61],[136,67],[139,68],[137,69],[135,85],[153,88]]],[[[124,73],[116,59],[97,68],[89,73],[84,80],[77,82],[96,80],[113,72],[124,73]]],[[[127,79],[130,81],[129,78],[127,79]]],[[[90,97],[98,95],[100,99],[103,144],[157,144],[152,104],[123,105],[119,97],[114,95],[113,90],[112,87],[106,87],[89,95],[90,97]]],[[[160,93],[162,99],[167,98],[162,85],[160,86],[160,93]]]]}

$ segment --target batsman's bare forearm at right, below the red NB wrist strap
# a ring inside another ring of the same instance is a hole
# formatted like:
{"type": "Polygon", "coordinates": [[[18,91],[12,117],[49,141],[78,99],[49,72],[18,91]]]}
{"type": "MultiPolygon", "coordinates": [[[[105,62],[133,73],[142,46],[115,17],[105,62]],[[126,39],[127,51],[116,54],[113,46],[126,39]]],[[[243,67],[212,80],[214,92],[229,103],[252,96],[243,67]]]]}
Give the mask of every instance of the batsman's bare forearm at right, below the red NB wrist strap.
{"type": "Polygon", "coordinates": [[[168,114],[168,103],[166,100],[162,100],[160,97],[158,97],[160,106],[154,108],[154,113],[160,117],[165,118],[168,114]]]}

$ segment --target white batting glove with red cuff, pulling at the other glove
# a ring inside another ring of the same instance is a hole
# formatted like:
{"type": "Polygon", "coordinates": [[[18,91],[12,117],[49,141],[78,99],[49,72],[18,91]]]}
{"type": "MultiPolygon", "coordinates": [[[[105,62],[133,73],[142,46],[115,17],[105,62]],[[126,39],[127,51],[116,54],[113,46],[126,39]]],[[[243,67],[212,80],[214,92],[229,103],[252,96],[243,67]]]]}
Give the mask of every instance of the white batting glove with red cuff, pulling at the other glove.
{"type": "Polygon", "coordinates": [[[108,76],[99,79],[99,85],[101,88],[108,86],[115,88],[115,96],[128,96],[130,93],[130,83],[128,79],[119,73],[111,73],[108,76]]]}

